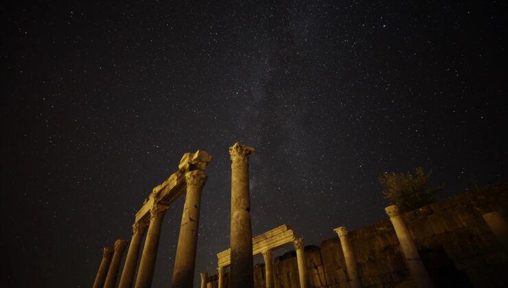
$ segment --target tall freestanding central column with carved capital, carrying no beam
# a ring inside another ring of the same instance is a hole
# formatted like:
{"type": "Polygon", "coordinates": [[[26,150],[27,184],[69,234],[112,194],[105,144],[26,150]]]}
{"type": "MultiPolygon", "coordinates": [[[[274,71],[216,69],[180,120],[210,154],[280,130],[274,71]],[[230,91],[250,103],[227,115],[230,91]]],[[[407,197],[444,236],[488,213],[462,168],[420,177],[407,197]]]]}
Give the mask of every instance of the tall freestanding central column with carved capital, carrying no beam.
{"type": "Polygon", "coordinates": [[[249,195],[249,156],[253,152],[253,148],[240,143],[229,147],[232,161],[229,283],[234,288],[254,287],[251,199],[249,195]]]}

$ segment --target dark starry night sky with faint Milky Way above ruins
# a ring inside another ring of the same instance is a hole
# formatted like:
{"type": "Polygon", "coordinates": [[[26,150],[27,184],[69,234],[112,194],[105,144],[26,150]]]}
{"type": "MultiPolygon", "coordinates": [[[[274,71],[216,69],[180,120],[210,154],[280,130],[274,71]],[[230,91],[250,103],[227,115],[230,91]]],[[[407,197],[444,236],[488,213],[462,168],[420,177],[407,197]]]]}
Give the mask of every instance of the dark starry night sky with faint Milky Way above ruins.
{"type": "Polygon", "coordinates": [[[5,287],[90,287],[197,149],[214,158],[196,283],[229,246],[237,141],[256,149],[253,234],[289,224],[308,245],[386,219],[384,171],[432,169],[440,198],[507,180],[505,1],[42,2],[0,8],[5,287]]]}

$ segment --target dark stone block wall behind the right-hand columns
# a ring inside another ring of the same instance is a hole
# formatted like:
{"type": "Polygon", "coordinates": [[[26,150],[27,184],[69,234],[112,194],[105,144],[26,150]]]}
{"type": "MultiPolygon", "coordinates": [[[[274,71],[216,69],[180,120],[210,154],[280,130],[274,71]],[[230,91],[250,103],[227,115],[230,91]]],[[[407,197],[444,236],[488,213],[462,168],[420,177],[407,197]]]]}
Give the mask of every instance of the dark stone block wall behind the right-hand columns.
{"type": "MultiPolygon", "coordinates": [[[[491,211],[508,221],[508,183],[402,215],[436,287],[508,287],[508,251],[482,217],[491,211]]],[[[385,221],[349,232],[349,237],[364,287],[415,286],[388,216],[385,221]]],[[[338,237],[323,241],[320,247],[306,246],[305,256],[309,287],[349,287],[338,237]]],[[[296,259],[295,251],[275,258],[275,287],[299,287],[296,259]]],[[[254,270],[255,287],[264,287],[264,265],[258,264],[254,270]]],[[[216,275],[208,281],[207,287],[217,287],[216,275]]]]}

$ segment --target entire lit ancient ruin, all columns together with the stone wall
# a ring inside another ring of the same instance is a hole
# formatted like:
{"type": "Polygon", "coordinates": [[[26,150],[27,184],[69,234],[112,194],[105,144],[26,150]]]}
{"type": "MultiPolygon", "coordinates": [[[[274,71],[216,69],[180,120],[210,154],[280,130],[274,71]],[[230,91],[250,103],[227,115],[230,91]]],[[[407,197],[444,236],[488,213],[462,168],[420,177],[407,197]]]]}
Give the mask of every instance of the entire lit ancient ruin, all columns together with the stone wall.
{"type": "MultiPolygon", "coordinates": [[[[240,143],[231,156],[231,245],[217,254],[218,274],[200,272],[202,288],[226,287],[507,287],[508,184],[498,184],[400,213],[388,206],[389,219],[348,231],[320,247],[305,247],[303,237],[281,225],[252,237],[249,156],[240,143]],[[294,251],[277,256],[277,248],[294,251]],[[264,263],[254,265],[262,254],[264,263]],[[229,272],[227,269],[229,267],[229,272]]],[[[192,287],[200,216],[200,197],[211,156],[183,156],[178,171],[155,187],[135,215],[132,238],[119,280],[121,288],[151,287],[163,216],[185,191],[172,287],[192,287]],[[143,235],[146,241],[139,261],[143,235]]],[[[94,288],[115,287],[126,240],[104,248],[94,288]]]]}

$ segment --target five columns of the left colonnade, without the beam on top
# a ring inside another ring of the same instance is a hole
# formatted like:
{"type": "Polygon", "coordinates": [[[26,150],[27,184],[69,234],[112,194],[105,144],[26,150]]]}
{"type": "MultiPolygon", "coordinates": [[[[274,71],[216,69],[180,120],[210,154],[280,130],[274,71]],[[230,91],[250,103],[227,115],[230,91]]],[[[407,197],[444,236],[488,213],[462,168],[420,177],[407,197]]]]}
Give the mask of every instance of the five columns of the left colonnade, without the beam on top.
{"type": "MultiPolygon", "coordinates": [[[[207,180],[205,172],[200,170],[185,173],[187,193],[183,208],[178,247],[172,278],[172,287],[192,287],[194,282],[194,266],[196,263],[196,247],[198,237],[200,197],[203,186],[207,180]]],[[[119,288],[131,288],[134,283],[135,270],[141,240],[148,226],[146,241],[139,261],[139,268],[135,281],[135,288],[149,288],[152,286],[159,238],[167,205],[154,204],[150,209],[150,221],[143,223],[135,222],[132,225],[132,239],[124,264],[124,270],[119,281],[119,288]]],[[[119,265],[122,262],[122,254],[126,248],[126,240],[115,242],[114,253],[111,248],[104,248],[102,261],[93,283],[93,288],[113,288],[116,285],[119,265]]]]}

